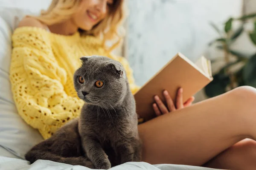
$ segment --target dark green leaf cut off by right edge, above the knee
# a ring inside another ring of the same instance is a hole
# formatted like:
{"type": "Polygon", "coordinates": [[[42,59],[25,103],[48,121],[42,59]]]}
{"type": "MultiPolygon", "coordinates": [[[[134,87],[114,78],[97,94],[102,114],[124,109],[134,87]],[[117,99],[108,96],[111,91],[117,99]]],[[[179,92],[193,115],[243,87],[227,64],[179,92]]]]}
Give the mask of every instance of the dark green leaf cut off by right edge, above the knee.
{"type": "Polygon", "coordinates": [[[256,54],[244,65],[242,75],[246,85],[256,87],[256,54]]]}

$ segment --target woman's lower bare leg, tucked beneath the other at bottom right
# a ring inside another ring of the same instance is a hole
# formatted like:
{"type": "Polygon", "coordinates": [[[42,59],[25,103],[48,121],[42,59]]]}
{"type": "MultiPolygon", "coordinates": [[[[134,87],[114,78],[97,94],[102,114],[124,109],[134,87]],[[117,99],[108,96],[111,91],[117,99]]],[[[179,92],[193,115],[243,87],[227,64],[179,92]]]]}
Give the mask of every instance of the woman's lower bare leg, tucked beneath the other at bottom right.
{"type": "Polygon", "coordinates": [[[256,170],[255,161],[256,141],[244,139],[224,150],[204,166],[229,170],[256,170]]]}

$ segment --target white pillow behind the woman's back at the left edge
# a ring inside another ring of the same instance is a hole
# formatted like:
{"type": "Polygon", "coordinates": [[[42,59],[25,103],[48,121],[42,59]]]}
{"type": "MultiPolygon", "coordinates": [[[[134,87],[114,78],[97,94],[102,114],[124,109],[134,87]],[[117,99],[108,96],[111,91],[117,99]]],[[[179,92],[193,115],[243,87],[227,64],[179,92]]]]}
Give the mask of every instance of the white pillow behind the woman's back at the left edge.
{"type": "Polygon", "coordinates": [[[16,8],[0,8],[0,155],[22,159],[43,140],[38,130],[27,125],[17,113],[9,81],[12,32],[25,13],[30,14],[16,8]]]}

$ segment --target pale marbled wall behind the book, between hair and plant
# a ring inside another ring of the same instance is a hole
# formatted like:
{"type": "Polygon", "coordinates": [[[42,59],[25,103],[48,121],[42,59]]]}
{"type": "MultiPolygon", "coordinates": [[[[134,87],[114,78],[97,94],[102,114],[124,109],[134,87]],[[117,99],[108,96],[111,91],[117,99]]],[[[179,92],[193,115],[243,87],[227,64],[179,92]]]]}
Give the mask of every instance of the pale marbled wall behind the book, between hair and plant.
{"type": "Polygon", "coordinates": [[[207,44],[218,34],[209,22],[223,28],[241,15],[242,0],[128,0],[128,8],[128,60],[143,85],[177,52],[192,61],[210,56],[207,44]]]}

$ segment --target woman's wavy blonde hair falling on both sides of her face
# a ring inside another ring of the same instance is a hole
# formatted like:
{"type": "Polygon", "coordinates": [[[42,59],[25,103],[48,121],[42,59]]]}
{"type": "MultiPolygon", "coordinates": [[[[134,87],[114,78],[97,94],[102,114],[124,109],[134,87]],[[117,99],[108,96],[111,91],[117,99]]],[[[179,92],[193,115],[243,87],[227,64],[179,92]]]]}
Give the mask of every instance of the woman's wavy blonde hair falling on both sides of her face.
{"type": "MultiPolygon", "coordinates": [[[[49,8],[42,10],[41,15],[35,18],[48,26],[61,23],[70,19],[71,15],[79,8],[80,2],[81,0],[52,0],[49,8]]],[[[80,33],[96,37],[102,36],[104,45],[108,40],[115,41],[109,48],[109,51],[112,51],[119,45],[125,34],[122,28],[122,21],[126,17],[124,8],[124,0],[114,0],[113,4],[109,6],[105,19],[93,26],[90,31],[80,30],[80,33]]]]}

